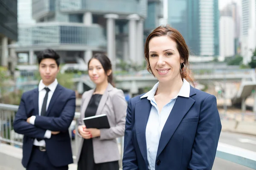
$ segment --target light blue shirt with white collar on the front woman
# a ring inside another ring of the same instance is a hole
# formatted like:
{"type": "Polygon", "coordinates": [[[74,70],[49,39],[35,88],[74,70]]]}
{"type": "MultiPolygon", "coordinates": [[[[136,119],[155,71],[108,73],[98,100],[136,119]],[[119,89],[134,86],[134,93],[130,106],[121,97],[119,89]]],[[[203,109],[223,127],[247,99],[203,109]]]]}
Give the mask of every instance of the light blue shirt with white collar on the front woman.
{"type": "Polygon", "coordinates": [[[175,101],[178,96],[189,97],[190,93],[190,84],[183,79],[183,85],[180,88],[179,93],[177,96],[165,106],[163,106],[161,113],[159,113],[157,103],[154,99],[154,95],[157,91],[159,82],[154,85],[154,87],[148,91],[148,93],[144,94],[140,98],[147,97],[148,100],[151,102],[151,111],[148,117],[148,123],[146,126],[146,145],[147,145],[147,159],[148,159],[148,169],[155,170],[155,164],[157,159],[157,149],[159,145],[160,136],[163,130],[163,127],[168,119],[172,108],[175,104],[175,101]]]}

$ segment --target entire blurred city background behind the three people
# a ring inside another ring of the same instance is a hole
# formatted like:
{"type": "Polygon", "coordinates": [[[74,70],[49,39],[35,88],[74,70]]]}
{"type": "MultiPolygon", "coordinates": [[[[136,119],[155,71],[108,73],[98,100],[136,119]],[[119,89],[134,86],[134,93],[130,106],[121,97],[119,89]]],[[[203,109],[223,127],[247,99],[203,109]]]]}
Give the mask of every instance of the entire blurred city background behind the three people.
{"type": "Polygon", "coordinates": [[[81,95],[95,87],[88,60],[107,54],[127,101],[145,93],[157,79],[146,70],[144,43],[161,24],[186,40],[195,88],[217,98],[222,132],[213,170],[256,169],[256,0],[0,0],[0,170],[22,169],[23,136],[12,121],[23,92],[38,87],[40,51],[61,56],[58,82],[76,91],[75,160],[81,95]]]}

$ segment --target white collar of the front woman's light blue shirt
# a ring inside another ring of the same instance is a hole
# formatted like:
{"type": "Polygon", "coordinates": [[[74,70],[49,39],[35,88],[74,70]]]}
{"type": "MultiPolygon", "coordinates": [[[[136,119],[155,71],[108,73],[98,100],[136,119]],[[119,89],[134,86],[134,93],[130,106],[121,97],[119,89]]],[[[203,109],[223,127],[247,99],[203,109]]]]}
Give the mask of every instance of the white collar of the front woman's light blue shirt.
{"type": "MultiPolygon", "coordinates": [[[[159,84],[159,82],[157,82],[157,84],[155,84],[154,87],[150,91],[148,91],[148,93],[141,96],[140,99],[142,99],[144,97],[148,97],[147,98],[148,100],[153,99],[154,95],[157,91],[158,84],[159,84]]],[[[186,81],[186,79],[183,79],[183,85],[181,86],[180,91],[177,94],[177,96],[183,96],[183,97],[189,98],[189,94],[190,94],[190,84],[189,84],[189,82],[186,81]]]]}

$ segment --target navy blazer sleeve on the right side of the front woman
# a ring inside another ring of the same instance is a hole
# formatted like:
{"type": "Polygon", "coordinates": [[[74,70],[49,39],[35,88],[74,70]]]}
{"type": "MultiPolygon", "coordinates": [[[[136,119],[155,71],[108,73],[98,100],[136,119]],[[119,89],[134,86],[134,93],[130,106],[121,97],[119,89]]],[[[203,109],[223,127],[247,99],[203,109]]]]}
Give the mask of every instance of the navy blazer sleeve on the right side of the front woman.
{"type": "Polygon", "coordinates": [[[221,120],[217,109],[216,97],[210,95],[201,105],[189,169],[212,169],[220,133],[221,120]]]}

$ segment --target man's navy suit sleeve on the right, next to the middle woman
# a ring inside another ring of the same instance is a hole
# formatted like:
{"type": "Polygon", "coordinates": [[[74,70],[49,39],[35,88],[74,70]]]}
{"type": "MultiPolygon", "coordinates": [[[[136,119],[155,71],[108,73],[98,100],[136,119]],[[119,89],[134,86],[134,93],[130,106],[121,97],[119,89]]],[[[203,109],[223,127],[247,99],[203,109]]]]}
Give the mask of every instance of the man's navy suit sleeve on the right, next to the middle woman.
{"type": "MultiPolygon", "coordinates": [[[[58,106],[55,106],[58,107],[58,106]]],[[[59,117],[36,116],[35,126],[51,131],[66,131],[74,119],[76,110],[76,94],[71,93],[59,117]]]]}

